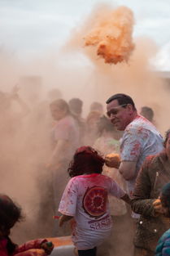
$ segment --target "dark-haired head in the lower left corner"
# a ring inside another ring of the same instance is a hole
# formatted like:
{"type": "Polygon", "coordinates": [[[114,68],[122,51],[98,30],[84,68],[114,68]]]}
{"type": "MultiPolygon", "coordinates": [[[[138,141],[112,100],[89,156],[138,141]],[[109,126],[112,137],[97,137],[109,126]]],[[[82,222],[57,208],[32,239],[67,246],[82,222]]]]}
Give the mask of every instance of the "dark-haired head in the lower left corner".
{"type": "Polygon", "coordinates": [[[0,238],[9,236],[11,227],[21,218],[20,207],[9,196],[0,194],[0,238]]]}

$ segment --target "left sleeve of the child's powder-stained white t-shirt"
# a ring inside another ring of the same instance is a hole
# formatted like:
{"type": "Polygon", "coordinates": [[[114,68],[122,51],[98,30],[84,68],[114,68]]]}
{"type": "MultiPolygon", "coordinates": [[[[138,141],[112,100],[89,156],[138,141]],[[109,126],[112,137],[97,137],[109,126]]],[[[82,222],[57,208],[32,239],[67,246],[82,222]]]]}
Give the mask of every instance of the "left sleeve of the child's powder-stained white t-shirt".
{"type": "Polygon", "coordinates": [[[59,212],[64,215],[74,216],[76,213],[77,188],[75,178],[68,182],[59,204],[59,212]]]}

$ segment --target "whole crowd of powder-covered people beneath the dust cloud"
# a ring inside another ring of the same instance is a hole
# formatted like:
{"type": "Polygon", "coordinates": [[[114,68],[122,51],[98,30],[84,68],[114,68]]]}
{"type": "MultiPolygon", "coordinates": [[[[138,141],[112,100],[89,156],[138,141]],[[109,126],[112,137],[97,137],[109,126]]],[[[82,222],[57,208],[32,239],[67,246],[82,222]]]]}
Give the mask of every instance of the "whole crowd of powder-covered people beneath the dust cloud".
{"type": "MultiPolygon", "coordinates": [[[[17,88],[0,92],[0,164],[5,170],[9,162],[20,166],[19,155],[27,145],[25,155],[33,156],[27,160],[29,168],[36,165],[41,172],[41,177],[35,176],[40,191],[37,236],[72,233],[79,256],[170,255],[170,130],[163,141],[154,111],[143,106],[138,114],[133,99],[118,93],[106,101],[106,114],[104,102],[96,101],[83,118],[79,98],[65,101],[61,93],[54,97],[49,92],[49,100],[30,108],[19,95],[17,88]],[[14,101],[19,109],[15,113],[14,101]],[[24,127],[27,138],[19,143],[24,127]],[[12,142],[20,145],[17,150],[12,142]],[[58,212],[59,221],[52,218],[58,212]],[[68,221],[71,225],[64,223],[68,221]]],[[[20,208],[7,195],[0,196],[0,204],[7,206],[0,209],[0,254],[5,247],[1,255],[32,255],[26,247],[22,248],[27,254],[20,254],[9,238],[11,227],[20,220],[20,208]],[[14,216],[4,220],[10,207],[14,216]]],[[[42,255],[53,249],[47,240],[30,243],[28,249],[37,246],[42,255]]]]}

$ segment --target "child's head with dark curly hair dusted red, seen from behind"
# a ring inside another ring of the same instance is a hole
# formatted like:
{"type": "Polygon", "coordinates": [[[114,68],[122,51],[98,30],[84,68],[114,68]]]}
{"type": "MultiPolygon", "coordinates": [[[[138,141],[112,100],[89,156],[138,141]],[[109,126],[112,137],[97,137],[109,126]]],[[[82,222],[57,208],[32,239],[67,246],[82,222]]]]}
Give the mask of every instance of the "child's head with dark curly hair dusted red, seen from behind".
{"type": "Polygon", "coordinates": [[[76,150],[72,162],[69,165],[70,177],[82,174],[102,173],[105,160],[91,146],[81,146],[76,150]]]}

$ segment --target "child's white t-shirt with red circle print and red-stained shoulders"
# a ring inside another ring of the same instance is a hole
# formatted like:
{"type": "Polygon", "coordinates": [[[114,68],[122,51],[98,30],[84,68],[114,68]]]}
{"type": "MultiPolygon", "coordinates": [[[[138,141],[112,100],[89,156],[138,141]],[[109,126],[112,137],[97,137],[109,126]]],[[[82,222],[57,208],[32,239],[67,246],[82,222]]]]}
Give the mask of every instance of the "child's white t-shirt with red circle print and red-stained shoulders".
{"type": "Polygon", "coordinates": [[[108,194],[117,198],[124,191],[110,177],[93,173],[72,177],[63,192],[59,212],[74,216],[72,241],[78,249],[92,249],[111,231],[108,194]]]}

